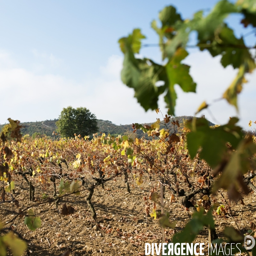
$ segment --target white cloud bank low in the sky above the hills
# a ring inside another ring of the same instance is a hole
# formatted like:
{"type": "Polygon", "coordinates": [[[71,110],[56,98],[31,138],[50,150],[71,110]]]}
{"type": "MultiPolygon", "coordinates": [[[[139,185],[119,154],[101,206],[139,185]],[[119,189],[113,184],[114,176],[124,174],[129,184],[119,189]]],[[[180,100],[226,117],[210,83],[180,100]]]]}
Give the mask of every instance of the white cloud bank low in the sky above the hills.
{"type": "MultiPolygon", "coordinates": [[[[50,54],[35,50],[33,54],[43,68],[47,65],[45,60],[55,61],[55,57],[50,54]]],[[[198,87],[195,94],[183,93],[175,86],[178,94],[177,115],[193,115],[202,101],[211,103],[219,99],[236,74],[232,68],[223,69],[218,58],[211,58],[207,52],[193,53],[185,62],[192,65],[191,73],[198,87]]],[[[35,70],[17,65],[15,58],[7,52],[0,51],[0,107],[5,109],[1,113],[0,123],[6,122],[9,117],[23,122],[58,118],[62,108],[69,105],[89,108],[97,118],[108,119],[116,124],[154,122],[158,117],[155,111],[145,113],[134,98],[133,89],[122,84],[121,69],[122,57],[112,55],[105,66],[99,67],[97,77],[85,77],[83,81],[77,81],[46,71],[38,75],[35,70]]],[[[255,75],[248,77],[250,82],[239,96],[241,125],[245,128],[249,119],[255,119],[255,78],[255,75]]],[[[159,102],[164,112],[163,97],[159,102]]],[[[224,100],[214,103],[210,110],[219,123],[237,114],[224,100]]],[[[207,111],[202,114],[215,122],[207,111]]]]}

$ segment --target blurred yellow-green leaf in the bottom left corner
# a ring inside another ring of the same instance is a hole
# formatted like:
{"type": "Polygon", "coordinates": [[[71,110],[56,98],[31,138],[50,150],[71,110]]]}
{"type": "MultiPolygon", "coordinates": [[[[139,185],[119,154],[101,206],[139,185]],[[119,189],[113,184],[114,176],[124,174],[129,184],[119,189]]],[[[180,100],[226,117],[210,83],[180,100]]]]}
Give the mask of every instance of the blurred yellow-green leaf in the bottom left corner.
{"type": "Polygon", "coordinates": [[[3,243],[10,247],[13,256],[22,256],[27,248],[25,241],[17,238],[13,232],[7,233],[0,239],[0,255],[4,256],[6,255],[6,249],[4,248],[3,243]]]}

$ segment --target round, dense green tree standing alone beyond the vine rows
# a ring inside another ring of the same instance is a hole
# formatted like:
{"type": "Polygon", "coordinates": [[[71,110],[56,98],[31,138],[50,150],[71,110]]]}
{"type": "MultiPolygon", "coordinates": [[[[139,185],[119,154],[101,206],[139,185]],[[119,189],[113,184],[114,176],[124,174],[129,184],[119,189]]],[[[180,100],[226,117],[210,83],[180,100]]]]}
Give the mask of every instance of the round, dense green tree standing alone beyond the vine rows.
{"type": "Polygon", "coordinates": [[[82,107],[63,108],[56,125],[62,137],[74,137],[74,134],[84,137],[98,131],[96,116],[89,109],[82,107]]]}

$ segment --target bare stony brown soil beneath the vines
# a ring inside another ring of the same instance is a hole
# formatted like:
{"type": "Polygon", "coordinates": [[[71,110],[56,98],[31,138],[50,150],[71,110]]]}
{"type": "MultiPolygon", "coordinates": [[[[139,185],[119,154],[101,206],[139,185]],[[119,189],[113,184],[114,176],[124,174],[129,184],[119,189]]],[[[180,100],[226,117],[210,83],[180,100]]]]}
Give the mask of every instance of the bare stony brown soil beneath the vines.
{"type": "MultiPolygon", "coordinates": [[[[148,177],[146,178],[148,179],[148,177]]],[[[53,198],[53,185],[42,186],[35,183],[35,201],[29,201],[29,186],[21,177],[15,180],[15,197],[19,200],[20,209],[38,202],[47,201],[42,199],[43,193],[53,198]]],[[[159,220],[145,215],[144,196],[148,196],[150,189],[157,183],[156,180],[145,181],[137,186],[133,179],[129,180],[131,193],[126,191],[124,177],[116,181],[111,180],[105,184],[105,189],[98,186],[93,194],[92,203],[96,209],[97,218],[91,218],[91,212],[85,198],[87,191],[81,195],[70,195],[61,199],[58,209],[55,204],[47,202],[32,208],[40,216],[42,226],[35,231],[29,230],[24,225],[24,216],[17,218],[13,228],[28,240],[28,250],[24,255],[48,256],[61,255],[70,250],[70,255],[145,255],[145,242],[159,243],[162,241],[159,220]],[[75,208],[72,215],[61,215],[64,204],[75,208]]],[[[58,186],[58,183],[57,183],[58,186]]],[[[158,193],[160,189],[158,188],[158,193]]],[[[223,193],[227,199],[227,195],[223,193]]],[[[177,220],[174,230],[165,229],[166,241],[180,232],[191,218],[191,213],[180,203],[181,198],[175,198],[176,202],[169,201],[171,192],[166,189],[164,206],[169,209],[170,221],[177,220]]],[[[216,199],[226,205],[218,193],[211,199],[216,199]]],[[[199,199],[199,198],[198,198],[199,199]]],[[[253,192],[244,196],[244,204],[232,203],[232,215],[214,215],[216,232],[219,237],[225,226],[230,225],[239,228],[242,234],[250,228],[250,222],[256,219],[256,197],[253,192]]],[[[11,220],[18,210],[14,204],[0,205],[0,221],[6,223],[11,220]]],[[[10,224],[7,224],[10,225],[10,224]]],[[[201,231],[196,241],[208,244],[208,230],[201,231]]],[[[207,255],[207,253],[205,254],[207,255]]]]}

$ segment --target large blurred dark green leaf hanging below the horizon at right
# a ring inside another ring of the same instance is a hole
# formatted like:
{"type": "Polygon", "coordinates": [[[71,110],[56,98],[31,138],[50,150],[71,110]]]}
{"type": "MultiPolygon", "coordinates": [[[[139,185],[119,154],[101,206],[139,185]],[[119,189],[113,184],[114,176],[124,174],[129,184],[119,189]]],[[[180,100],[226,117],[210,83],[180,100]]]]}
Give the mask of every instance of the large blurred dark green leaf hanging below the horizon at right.
{"type": "Polygon", "coordinates": [[[226,143],[236,148],[242,140],[242,129],[236,126],[237,122],[238,118],[233,117],[226,125],[215,128],[210,128],[208,121],[204,118],[187,122],[186,126],[192,130],[187,134],[187,146],[191,158],[195,157],[201,147],[200,158],[215,168],[225,156],[226,143]]]}

